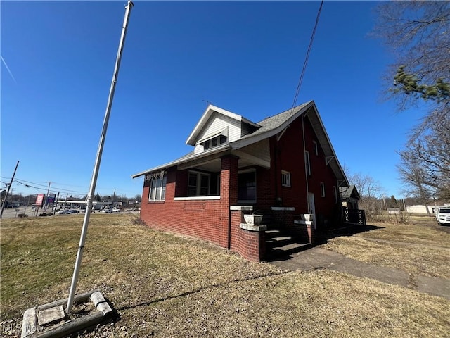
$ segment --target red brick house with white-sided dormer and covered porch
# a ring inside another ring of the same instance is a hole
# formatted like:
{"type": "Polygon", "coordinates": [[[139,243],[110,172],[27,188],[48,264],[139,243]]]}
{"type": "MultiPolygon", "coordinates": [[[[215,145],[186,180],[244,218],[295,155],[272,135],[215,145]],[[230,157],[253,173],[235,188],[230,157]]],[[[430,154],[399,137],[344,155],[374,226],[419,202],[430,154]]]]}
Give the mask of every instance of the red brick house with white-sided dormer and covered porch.
{"type": "Polygon", "coordinates": [[[149,227],[261,261],[342,222],[340,188],[349,184],[314,101],[259,123],[210,105],[186,144],[186,156],[132,175],[145,176],[149,227]],[[262,223],[246,223],[249,213],[262,223]]]}

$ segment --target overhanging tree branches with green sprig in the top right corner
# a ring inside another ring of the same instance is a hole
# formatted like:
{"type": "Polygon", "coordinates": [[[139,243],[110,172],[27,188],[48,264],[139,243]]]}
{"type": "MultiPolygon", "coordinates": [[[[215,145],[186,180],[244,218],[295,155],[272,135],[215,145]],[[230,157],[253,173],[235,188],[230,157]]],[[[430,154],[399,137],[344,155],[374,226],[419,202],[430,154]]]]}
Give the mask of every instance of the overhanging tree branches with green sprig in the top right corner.
{"type": "Polygon", "coordinates": [[[448,102],[450,2],[385,1],[376,12],[373,33],[393,52],[388,87],[400,108],[417,99],[448,102]]]}

